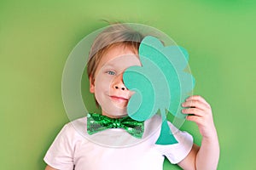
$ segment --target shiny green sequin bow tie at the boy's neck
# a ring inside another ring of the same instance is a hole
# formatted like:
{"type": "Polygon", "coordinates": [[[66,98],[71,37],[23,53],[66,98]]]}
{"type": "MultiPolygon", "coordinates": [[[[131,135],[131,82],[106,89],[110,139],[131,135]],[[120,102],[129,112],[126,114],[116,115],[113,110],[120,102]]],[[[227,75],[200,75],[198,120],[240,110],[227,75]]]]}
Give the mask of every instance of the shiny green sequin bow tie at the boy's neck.
{"type": "Polygon", "coordinates": [[[108,128],[124,128],[127,133],[141,139],[143,137],[144,122],[135,121],[129,116],[114,119],[100,114],[88,113],[87,132],[89,134],[97,133],[108,128]]]}

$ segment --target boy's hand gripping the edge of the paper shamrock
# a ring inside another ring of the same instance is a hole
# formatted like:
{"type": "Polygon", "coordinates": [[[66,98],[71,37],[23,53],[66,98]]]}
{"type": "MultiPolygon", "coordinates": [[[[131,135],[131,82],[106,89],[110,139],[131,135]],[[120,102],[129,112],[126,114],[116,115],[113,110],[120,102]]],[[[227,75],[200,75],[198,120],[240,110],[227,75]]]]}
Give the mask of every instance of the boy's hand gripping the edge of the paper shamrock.
{"type": "Polygon", "coordinates": [[[203,138],[215,137],[217,133],[212,119],[212,109],[205,99],[199,95],[190,96],[182,106],[187,107],[183,109],[183,114],[188,114],[187,120],[198,125],[203,138]]]}

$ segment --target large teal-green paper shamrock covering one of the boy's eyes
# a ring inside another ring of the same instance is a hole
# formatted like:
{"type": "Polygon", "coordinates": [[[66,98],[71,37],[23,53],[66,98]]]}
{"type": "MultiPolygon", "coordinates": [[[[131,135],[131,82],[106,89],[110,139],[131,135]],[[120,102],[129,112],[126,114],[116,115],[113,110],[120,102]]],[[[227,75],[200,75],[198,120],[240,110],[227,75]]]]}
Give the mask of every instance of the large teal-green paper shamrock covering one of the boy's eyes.
{"type": "Polygon", "coordinates": [[[160,137],[156,144],[176,144],[166,114],[172,113],[172,124],[179,128],[185,120],[181,104],[195,86],[195,79],[184,71],[189,54],[178,46],[164,45],[155,37],[144,37],[139,47],[142,66],[125,70],[125,86],[134,91],[127,112],[137,121],[145,121],[160,111],[162,118],[160,137]]]}

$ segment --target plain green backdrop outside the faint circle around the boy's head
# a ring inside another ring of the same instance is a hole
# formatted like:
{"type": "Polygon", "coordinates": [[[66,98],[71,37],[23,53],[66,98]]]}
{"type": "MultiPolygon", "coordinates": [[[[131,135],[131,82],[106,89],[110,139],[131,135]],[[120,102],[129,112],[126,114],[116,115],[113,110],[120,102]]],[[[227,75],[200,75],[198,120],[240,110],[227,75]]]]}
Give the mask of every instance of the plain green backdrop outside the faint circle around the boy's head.
{"type": "MultiPolygon", "coordinates": [[[[256,169],[254,2],[1,0],[0,169],[44,169],[46,150],[69,122],[61,99],[67,56],[107,26],[102,20],[154,26],[186,48],[195,94],[212,105],[218,169],[256,169]]],[[[200,144],[195,123],[183,129],[200,144]]],[[[178,168],[165,161],[164,169],[178,168]]]]}

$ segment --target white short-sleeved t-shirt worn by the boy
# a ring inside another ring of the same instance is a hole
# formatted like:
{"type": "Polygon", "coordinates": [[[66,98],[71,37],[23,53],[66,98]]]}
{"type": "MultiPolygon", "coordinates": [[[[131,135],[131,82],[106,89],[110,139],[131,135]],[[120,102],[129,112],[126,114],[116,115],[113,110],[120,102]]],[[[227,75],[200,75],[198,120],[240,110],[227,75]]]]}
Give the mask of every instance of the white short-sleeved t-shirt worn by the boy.
{"type": "Polygon", "coordinates": [[[169,126],[177,144],[155,144],[160,135],[160,116],[145,122],[143,139],[137,139],[122,128],[107,129],[89,135],[87,117],[69,122],[51,144],[44,157],[50,166],[61,170],[161,170],[165,156],[173,164],[182,161],[193,145],[189,133],[169,126]]]}

